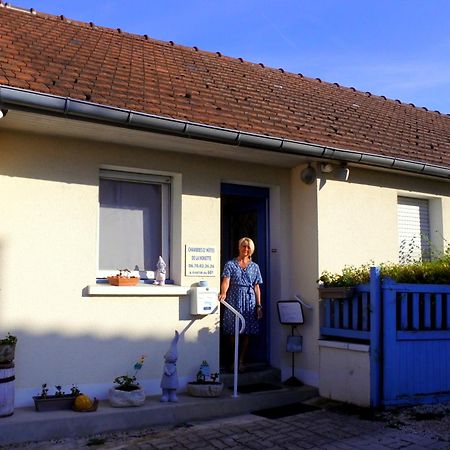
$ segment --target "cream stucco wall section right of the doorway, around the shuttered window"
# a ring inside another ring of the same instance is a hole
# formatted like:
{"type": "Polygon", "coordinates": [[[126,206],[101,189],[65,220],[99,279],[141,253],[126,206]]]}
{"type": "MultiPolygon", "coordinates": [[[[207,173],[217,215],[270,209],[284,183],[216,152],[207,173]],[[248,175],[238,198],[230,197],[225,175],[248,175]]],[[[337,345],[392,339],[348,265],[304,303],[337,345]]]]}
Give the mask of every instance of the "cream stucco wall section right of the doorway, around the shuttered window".
{"type": "MultiPolygon", "coordinates": [[[[398,195],[429,200],[433,246],[437,250],[448,246],[450,185],[432,179],[356,167],[350,168],[347,182],[334,180],[331,176],[327,179],[319,172],[317,182],[306,185],[300,179],[304,168],[305,165],[298,166],[291,173],[292,270],[289,295],[300,294],[313,309],[304,309],[305,324],[297,330],[303,335],[303,352],[295,357],[295,374],[303,381],[320,385],[324,391],[331,392],[334,388],[326,386],[325,380],[332,380],[333,372],[340,372],[341,366],[326,361],[331,353],[333,361],[336,361],[335,355],[345,350],[319,352],[316,280],[320,273],[324,270],[340,271],[345,265],[396,262],[399,249],[398,195]]],[[[290,329],[285,327],[280,337],[281,347],[285,347],[289,333],[290,329]]],[[[288,377],[290,354],[280,353],[280,358],[283,375],[288,377]]],[[[348,365],[351,361],[360,364],[361,358],[365,357],[358,354],[345,358],[348,365]]],[[[358,373],[361,374],[355,371],[355,379],[358,373]]],[[[364,374],[362,380],[367,381],[364,374]]],[[[349,401],[348,397],[343,400],[349,401]]]]}

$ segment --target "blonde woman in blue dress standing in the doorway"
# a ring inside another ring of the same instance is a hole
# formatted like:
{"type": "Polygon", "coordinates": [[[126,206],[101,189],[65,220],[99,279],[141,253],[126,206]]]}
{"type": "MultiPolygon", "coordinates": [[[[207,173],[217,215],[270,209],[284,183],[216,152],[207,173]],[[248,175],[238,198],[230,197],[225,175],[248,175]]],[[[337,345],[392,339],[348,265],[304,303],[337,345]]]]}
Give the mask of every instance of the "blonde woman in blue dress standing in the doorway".
{"type": "MultiPolygon", "coordinates": [[[[259,334],[259,319],[262,317],[261,290],[263,280],[258,264],[252,261],[255,251],[253,241],[244,237],[239,240],[239,256],[225,264],[220,284],[219,301],[226,300],[245,319],[245,329],[241,339],[239,370],[244,371],[244,361],[248,349],[249,336],[259,334]]],[[[222,331],[230,335],[234,345],[235,316],[225,308],[222,331]]]]}

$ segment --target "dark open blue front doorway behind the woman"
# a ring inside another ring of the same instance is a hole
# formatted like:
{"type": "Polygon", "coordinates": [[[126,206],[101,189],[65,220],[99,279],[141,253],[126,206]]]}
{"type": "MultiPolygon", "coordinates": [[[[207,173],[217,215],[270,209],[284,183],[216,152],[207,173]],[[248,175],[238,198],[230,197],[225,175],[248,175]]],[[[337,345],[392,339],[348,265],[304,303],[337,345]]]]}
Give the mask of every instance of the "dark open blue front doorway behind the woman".
{"type": "MultiPolygon", "coordinates": [[[[238,255],[238,241],[247,236],[255,243],[255,261],[261,270],[264,283],[261,285],[264,316],[261,320],[261,334],[250,341],[248,363],[265,365],[269,361],[269,317],[267,292],[268,270],[268,216],[269,189],[223,183],[221,189],[221,268],[226,261],[238,255]]],[[[229,361],[226,339],[221,339],[221,365],[229,361]]]]}

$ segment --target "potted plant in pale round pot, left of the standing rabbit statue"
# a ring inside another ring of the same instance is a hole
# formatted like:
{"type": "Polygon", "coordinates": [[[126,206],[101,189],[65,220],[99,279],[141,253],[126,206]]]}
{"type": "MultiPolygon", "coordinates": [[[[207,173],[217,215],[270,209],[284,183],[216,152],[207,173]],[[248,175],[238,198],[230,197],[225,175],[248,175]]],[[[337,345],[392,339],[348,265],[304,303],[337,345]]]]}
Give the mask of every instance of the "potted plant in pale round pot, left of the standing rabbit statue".
{"type": "Polygon", "coordinates": [[[141,356],[134,365],[135,373],[132,376],[128,374],[114,378],[114,384],[109,390],[109,402],[115,408],[125,406],[141,406],[145,402],[145,391],[139,386],[136,375],[144,364],[145,356],[141,356]]]}

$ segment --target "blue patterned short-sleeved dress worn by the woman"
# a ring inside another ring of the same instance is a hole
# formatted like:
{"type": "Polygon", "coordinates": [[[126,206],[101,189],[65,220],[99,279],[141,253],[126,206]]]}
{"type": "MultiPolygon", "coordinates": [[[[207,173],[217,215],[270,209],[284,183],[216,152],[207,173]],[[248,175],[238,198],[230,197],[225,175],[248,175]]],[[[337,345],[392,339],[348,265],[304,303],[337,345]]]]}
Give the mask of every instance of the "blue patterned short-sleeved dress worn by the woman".
{"type": "MultiPolygon", "coordinates": [[[[238,261],[233,259],[225,264],[222,277],[230,279],[225,300],[244,316],[244,334],[258,334],[259,321],[256,316],[254,286],[263,282],[258,264],[251,261],[245,269],[242,269],[238,261]]],[[[224,308],[222,331],[225,334],[234,334],[234,322],[234,314],[228,308],[224,308]]]]}

